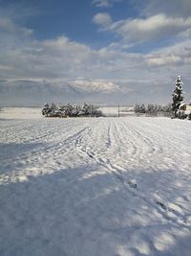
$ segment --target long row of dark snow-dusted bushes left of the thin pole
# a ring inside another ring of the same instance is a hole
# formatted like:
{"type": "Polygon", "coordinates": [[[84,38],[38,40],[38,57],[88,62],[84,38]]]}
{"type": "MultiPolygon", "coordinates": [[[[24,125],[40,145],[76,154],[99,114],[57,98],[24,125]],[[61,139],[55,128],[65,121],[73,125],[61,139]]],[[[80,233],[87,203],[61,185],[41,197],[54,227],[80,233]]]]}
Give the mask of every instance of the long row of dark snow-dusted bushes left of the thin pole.
{"type": "Polygon", "coordinates": [[[94,105],[44,105],[42,114],[46,117],[99,117],[102,112],[94,105]]]}

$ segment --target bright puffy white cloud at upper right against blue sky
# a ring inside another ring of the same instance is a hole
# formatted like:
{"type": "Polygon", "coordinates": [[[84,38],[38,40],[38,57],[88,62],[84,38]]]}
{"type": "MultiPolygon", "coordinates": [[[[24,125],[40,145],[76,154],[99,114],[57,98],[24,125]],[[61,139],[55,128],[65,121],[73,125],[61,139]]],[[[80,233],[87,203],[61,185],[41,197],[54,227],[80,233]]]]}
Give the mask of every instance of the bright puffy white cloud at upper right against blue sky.
{"type": "Polygon", "coordinates": [[[112,22],[107,15],[96,14],[94,21],[104,30],[112,31],[129,43],[141,43],[151,40],[159,40],[167,37],[190,35],[191,17],[168,17],[165,14],[157,14],[148,18],[136,18],[112,22]],[[105,18],[105,20],[104,20],[105,18]],[[107,21],[108,22],[105,22],[107,21]],[[189,33],[188,33],[189,32],[189,33]]]}

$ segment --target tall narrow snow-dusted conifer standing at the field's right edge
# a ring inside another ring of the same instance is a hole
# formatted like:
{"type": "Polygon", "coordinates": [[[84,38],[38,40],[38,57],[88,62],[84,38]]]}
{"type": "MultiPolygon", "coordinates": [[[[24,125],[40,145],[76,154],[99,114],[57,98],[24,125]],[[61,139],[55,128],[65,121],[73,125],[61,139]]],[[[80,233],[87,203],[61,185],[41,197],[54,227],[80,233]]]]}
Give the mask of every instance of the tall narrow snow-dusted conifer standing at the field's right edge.
{"type": "Polygon", "coordinates": [[[183,101],[183,92],[182,92],[182,84],[180,76],[178,76],[177,81],[175,83],[175,89],[173,91],[173,103],[172,110],[174,112],[175,117],[177,117],[177,112],[179,110],[180,104],[183,101]]]}

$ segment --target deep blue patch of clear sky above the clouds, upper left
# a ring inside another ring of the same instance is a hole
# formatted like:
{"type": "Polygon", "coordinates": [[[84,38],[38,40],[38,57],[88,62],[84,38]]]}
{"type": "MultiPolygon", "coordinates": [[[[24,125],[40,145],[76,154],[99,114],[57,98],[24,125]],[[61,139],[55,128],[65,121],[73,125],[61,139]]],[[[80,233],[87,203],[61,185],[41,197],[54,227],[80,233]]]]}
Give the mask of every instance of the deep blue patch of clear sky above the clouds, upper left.
{"type": "Polygon", "coordinates": [[[97,11],[109,12],[115,19],[133,17],[136,7],[128,1],[118,1],[115,6],[98,7],[98,2],[90,0],[28,0],[1,1],[6,12],[13,12],[13,20],[21,26],[33,30],[33,35],[39,39],[50,39],[66,35],[71,40],[92,45],[106,46],[115,40],[112,33],[97,33],[93,17],[97,11]],[[18,12],[22,12],[20,15],[18,12]],[[27,16],[27,12],[29,16],[27,16]]]}

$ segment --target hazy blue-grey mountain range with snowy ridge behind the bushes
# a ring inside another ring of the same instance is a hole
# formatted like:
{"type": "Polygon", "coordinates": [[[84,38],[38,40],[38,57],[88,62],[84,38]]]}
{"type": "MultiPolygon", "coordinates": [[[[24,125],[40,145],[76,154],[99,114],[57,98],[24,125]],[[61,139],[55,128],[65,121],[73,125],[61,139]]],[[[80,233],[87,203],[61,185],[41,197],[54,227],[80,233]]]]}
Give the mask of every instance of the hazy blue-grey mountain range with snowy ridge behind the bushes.
{"type": "Polygon", "coordinates": [[[0,106],[41,106],[47,102],[87,102],[96,105],[167,104],[170,92],[162,97],[165,90],[165,86],[154,90],[152,84],[131,80],[0,80],[0,106]],[[142,88],[145,88],[144,92],[142,88]]]}

